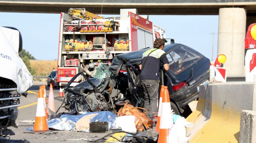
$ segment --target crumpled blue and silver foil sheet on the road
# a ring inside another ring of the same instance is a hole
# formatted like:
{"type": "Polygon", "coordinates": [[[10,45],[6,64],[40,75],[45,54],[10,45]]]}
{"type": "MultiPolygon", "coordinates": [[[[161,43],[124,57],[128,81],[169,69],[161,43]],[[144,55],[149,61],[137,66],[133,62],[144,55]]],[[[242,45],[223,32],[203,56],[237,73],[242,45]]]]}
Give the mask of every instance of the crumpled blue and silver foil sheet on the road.
{"type": "MultiPolygon", "coordinates": [[[[85,114],[81,114],[81,115],[63,114],[60,116],[60,118],[55,118],[55,119],[49,120],[47,122],[48,128],[53,128],[55,130],[76,131],[75,123],[78,120],[80,120],[80,118],[82,118],[85,115],[96,114],[96,113],[98,113],[98,115],[93,117],[90,122],[97,122],[97,121],[108,122],[109,129],[116,128],[115,118],[117,117],[117,115],[110,111],[85,112],[85,114]]],[[[84,131],[88,132],[89,130],[84,130],[84,131]]]]}

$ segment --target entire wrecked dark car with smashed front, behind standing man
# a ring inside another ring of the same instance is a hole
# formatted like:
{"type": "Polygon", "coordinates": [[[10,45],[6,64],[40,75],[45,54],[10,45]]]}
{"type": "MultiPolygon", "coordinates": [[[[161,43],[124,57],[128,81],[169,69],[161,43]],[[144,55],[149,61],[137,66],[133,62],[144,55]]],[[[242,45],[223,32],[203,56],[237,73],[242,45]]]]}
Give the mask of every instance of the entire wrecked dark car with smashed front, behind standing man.
{"type": "MultiPolygon", "coordinates": [[[[72,112],[116,112],[127,101],[133,106],[143,107],[143,89],[137,88],[135,81],[140,73],[142,54],[146,50],[148,48],[118,54],[110,66],[99,66],[96,78],[88,79],[84,75],[85,81],[68,88],[71,80],[64,89],[67,91],[65,108],[72,112]]],[[[182,44],[165,45],[163,50],[170,69],[167,72],[159,71],[159,87],[168,86],[172,113],[180,115],[189,102],[198,98],[199,84],[208,82],[210,60],[182,44]]]]}

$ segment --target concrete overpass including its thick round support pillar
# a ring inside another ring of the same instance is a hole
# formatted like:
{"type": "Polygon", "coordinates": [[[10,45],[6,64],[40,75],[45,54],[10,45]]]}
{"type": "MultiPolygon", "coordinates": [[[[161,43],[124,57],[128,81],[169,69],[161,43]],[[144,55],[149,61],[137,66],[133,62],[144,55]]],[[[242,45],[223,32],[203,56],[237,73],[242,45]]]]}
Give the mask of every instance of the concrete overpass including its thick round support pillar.
{"type": "Polygon", "coordinates": [[[245,75],[244,38],[256,22],[255,0],[0,0],[0,12],[60,13],[85,7],[96,14],[136,8],[147,15],[219,15],[218,54],[225,54],[228,75],[245,75]]]}

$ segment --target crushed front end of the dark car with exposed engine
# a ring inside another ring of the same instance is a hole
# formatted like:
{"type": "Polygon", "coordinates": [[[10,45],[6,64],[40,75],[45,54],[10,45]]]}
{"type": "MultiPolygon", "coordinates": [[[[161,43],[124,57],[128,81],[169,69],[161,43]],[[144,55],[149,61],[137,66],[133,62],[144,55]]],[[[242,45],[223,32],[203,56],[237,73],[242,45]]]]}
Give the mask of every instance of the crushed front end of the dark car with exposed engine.
{"type": "Polygon", "coordinates": [[[75,75],[64,88],[66,91],[65,108],[71,112],[112,111],[116,113],[125,102],[132,102],[135,106],[142,106],[138,97],[131,97],[128,90],[127,74],[116,73],[105,64],[100,64],[94,78],[87,78],[85,74],[75,75]],[[84,81],[69,88],[76,77],[82,75],[84,81]]]}

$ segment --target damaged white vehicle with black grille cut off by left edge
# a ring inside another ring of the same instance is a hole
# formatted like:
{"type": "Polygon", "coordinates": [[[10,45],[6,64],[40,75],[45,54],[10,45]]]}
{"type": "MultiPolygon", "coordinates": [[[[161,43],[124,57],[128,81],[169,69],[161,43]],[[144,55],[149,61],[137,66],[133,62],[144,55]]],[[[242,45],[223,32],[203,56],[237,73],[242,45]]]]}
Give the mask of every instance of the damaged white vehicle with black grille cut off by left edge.
{"type": "Polygon", "coordinates": [[[19,99],[26,96],[33,77],[19,57],[22,36],[13,27],[0,27],[0,137],[14,135],[7,127],[16,127],[19,99]]]}

